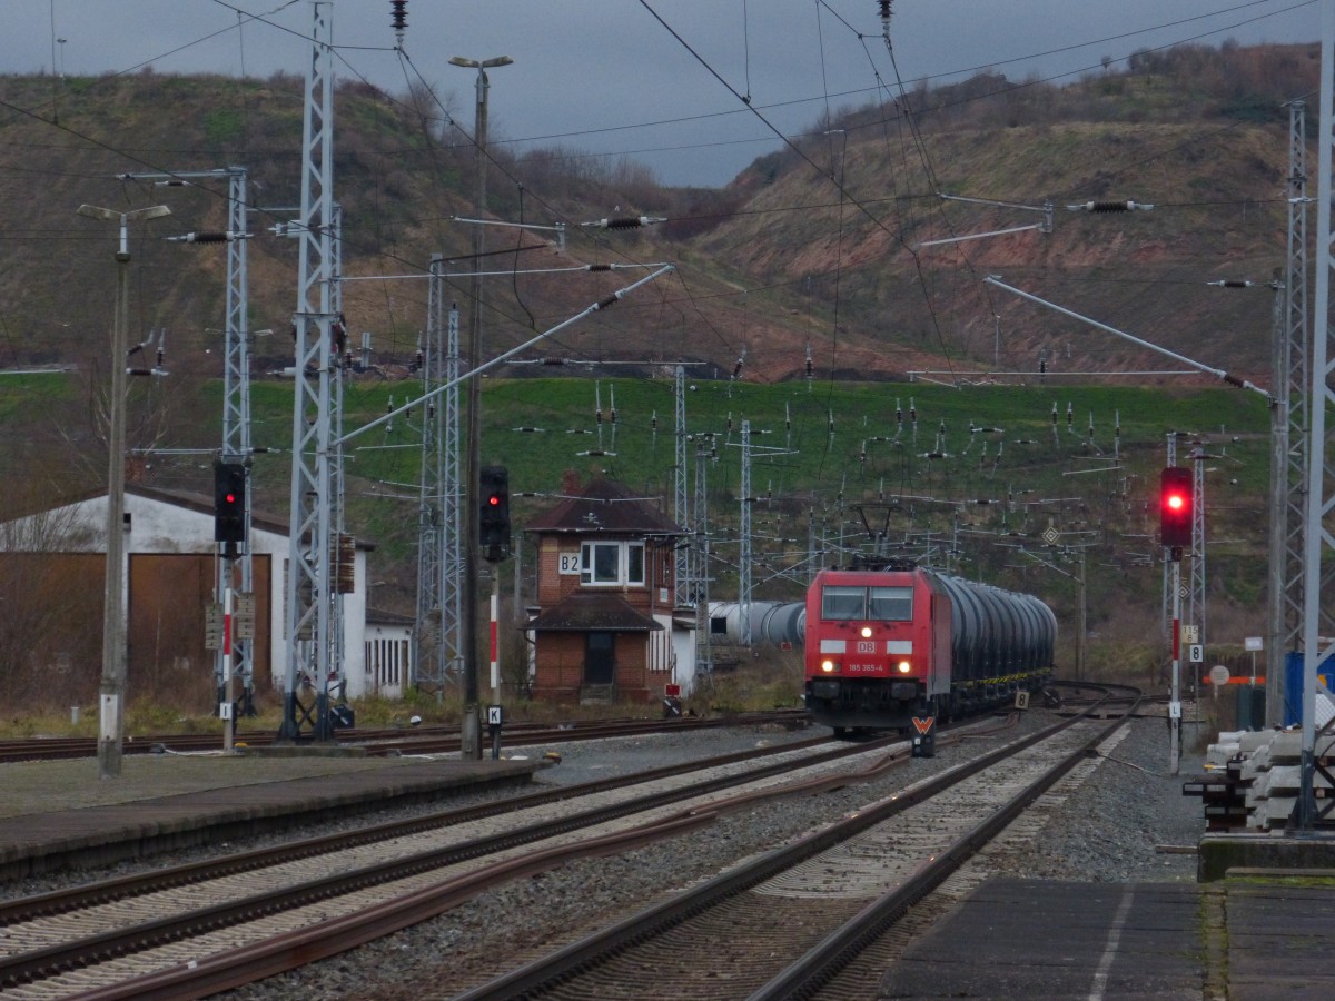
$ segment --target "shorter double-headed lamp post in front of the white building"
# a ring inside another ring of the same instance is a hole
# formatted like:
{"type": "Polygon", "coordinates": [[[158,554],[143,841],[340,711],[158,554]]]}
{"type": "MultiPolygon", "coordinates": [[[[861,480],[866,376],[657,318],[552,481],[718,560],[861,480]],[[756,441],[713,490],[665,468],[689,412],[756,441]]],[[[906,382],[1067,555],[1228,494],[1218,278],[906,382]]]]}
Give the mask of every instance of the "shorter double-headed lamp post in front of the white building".
{"type": "Polygon", "coordinates": [[[125,694],[125,355],[129,352],[129,222],[171,215],[167,206],[116,212],[79,206],[79,215],[119,223],[116,314],[111,328],[111,394],[107,431],[107,582],[101,623],[97,777],[120,775],[125,694]]]}

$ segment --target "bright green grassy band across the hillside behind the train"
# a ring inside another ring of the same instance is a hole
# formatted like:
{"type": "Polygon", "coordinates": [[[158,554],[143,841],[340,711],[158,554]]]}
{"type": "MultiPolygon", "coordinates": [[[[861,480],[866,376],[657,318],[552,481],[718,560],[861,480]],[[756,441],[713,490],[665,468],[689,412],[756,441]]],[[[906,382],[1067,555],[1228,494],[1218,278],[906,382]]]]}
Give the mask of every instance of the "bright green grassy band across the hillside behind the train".
{"type": "MultiPolygon", "coordinates": [[[[1228,623],[1228,631],[1259,629],[1268,411],[1256,394],[1041,384],[967,390],[924,383],[690,384],[696,387],[688,395],[690,494],[700,468],[697,448],[708,448],[716,598],[736,595],[742,422],[748,420],[757,597],[801,594],[814,537],[830,551],[829,562],[880,545],[881,551],[929,558],[956,573],[1036,591],[1053,602],[1069,627],[1073,581],[1019,549],[1059,563],[1065,573],[1075,573],[1069,561],[1083,550],[1091,627],[1155,631],[1161,585],[1157,476],[1168,434],[1177,431],[1183,464],[1197,447],[1208,456],[1208,582],[1211,602],[1218,603],[1211,621],[1228,623]],[[1057,549],[1043,539],[1049,527],[1059,533],[1057,549]]],[[[391,399],[398,406],[417,392],[414,383],[359,384],[348,394],[347,419],[371,419],[391,399]]],[[[489,380],[482,462],[507,466],[511,491],[534,495],[513,500],[515,527],[522,530],[557,502],[567,470],[585,479],[615,478],[672,514],[672,392],[666,378],[489,380]],[[586,454],[598,451],[599,442],[606,454],[586,454]]],[[[260,424],[282,426],[287,402],[282,391],[263,394],[256,407],[260,424]]],[[[419,476],[418,419],[399,419],[392,430],[354,439],[347,463],[350,521],[359,535],[378,543],[372,574],[388,582],[383,598],[396,595],[405,610],[415,579],[417,499],[403,484],[419,476]]],[[[200,475],[183,470],[187,474],[200,475]]],[[[256,480],[262,496],[286,503],[286,456],[258,456],[256,480]]],[[[509,578],[511,571],[507,566],[502,573],[509,578]]],[[[525,573],[531,574],[531,557],[525,573]]]]}

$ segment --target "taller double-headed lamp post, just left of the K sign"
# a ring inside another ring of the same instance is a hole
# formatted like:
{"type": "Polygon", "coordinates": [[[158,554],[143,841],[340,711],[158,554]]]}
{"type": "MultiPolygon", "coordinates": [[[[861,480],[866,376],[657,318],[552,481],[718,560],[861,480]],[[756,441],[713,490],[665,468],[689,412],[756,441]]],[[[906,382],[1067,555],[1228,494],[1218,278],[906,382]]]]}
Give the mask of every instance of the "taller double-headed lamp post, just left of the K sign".
{"type": "MultiPolygon", "coordinates": [[[[473,128],[473,141],[477,147],[477,190],[474,214],[478,219],[487,208],[487,69],[510,65],[510,56],[494,59],[463,59],[451,56],[450,65],[477,69],[477,113],[473,128]]],[[[482,363],[482,252],[483,227],[473,227],[473,311],[469,318],[469,372],[475,372],[482,363]]],[[[482,722],[478,718],[478,459],[482,448],[482,382],[469,379],[469,455],[465,463],[463,488],[463,726],[462,755],[467,759],[482,758],[482,722]]]]}

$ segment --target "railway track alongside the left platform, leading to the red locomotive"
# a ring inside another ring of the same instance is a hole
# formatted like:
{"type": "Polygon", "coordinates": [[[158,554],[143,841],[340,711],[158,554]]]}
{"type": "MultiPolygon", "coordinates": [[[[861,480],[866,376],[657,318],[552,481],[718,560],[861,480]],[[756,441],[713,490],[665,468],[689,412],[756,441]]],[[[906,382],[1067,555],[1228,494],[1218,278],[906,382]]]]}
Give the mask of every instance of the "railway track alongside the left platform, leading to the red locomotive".
{"type": "Polygon", "coordinates": [[[892,741],[818,738],[12,901],[0,905],[0,988],[7,998],[214,993],[562,857],[697,829],[710,798],[736,799],[738,786],[790,795],[857,781],[846,761],[870,759],[874,774],[906,755],[892,741]],[[794,769],[804,783],[785,783],[794,769]]]}

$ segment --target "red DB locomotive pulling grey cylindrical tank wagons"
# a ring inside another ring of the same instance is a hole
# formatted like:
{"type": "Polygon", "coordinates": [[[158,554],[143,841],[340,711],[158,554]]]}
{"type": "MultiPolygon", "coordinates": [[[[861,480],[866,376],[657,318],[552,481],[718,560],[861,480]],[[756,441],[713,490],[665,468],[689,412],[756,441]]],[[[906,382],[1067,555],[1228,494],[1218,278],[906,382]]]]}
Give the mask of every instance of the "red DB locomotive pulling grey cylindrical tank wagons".
{"type": "Polygon", "coordinates": [[[1037,598],[921,567],[822,570],[805,625],[806,707],[836,737],[945,722],[1036,691],[1057,637],[1037,598]]]}

